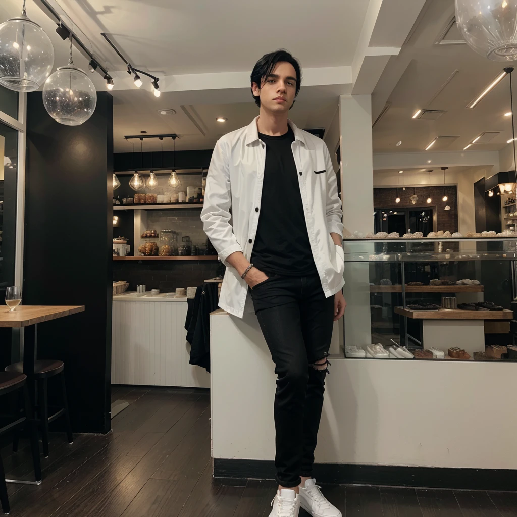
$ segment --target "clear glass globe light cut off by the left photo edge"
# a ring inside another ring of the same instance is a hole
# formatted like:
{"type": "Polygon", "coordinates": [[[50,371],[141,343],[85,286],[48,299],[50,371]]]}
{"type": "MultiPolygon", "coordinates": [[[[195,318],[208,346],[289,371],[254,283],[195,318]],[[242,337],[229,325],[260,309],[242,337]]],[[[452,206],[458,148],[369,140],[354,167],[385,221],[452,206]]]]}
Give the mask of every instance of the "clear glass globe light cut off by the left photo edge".
{"type": "Polygon", "coordinates": [[[15,92],[35,92],[54,66],[54,48],[43,29],[22,13],[0,24],[0,84],[15,92]]]}

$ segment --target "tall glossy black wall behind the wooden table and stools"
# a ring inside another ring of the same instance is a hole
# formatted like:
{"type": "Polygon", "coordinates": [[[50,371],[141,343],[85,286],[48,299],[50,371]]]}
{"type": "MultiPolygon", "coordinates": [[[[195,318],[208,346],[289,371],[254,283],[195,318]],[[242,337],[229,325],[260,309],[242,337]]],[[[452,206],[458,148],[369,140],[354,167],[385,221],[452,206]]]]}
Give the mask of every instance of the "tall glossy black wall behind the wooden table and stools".
{"type": "Polygon", "coordinates": [[[75,432],[111,428],[113,98],[81,126],[27,95],[25,305],[84,305],[39,325],[38,358],[61,359],[75,432]]]}

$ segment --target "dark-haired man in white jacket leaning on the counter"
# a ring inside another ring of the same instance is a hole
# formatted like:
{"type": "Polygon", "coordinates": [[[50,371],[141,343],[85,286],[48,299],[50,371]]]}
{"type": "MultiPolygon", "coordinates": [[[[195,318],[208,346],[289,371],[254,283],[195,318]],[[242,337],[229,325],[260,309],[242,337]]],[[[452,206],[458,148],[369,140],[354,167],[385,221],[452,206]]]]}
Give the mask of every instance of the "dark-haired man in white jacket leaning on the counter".
{"type": "Polygon", "coordinates": [[[219,307],[242,317],[249,293],[276,365],[270,517],[297,517],[300,504],[313,517],[341,517],[312,465],[333,322],[346,307],[342,211],[325,143],[287,118],[300,86],[290,53],[258,60],[251,90],[260,113],[217,142],[201,219],[228,266],[219,307]]]}

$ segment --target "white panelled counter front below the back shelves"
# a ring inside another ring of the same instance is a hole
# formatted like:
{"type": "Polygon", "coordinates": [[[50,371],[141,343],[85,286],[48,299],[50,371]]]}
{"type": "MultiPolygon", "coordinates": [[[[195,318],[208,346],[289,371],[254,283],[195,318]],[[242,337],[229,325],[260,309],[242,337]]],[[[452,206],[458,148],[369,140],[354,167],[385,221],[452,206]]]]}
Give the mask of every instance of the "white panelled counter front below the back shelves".
{"type": "Polygon", "coordinates": [[[113,302],[112,384],[209,387],[210,375],[189,364],[187,298],[130,292],[113,302]]]}

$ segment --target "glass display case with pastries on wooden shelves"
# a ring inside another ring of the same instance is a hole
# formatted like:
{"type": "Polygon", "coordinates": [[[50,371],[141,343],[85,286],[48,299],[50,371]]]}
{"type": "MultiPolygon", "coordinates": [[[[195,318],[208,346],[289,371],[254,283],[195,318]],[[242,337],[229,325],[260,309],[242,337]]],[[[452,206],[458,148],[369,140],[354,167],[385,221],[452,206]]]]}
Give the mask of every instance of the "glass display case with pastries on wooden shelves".
{"type": "Polygon", "coordinates": [[[517,359],[517,239],[345,239],[345,357],[517,359]]]}

